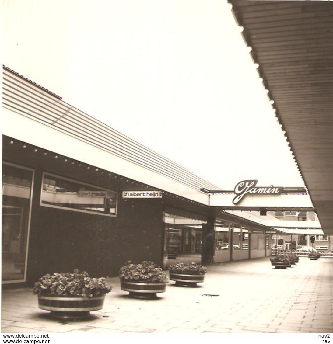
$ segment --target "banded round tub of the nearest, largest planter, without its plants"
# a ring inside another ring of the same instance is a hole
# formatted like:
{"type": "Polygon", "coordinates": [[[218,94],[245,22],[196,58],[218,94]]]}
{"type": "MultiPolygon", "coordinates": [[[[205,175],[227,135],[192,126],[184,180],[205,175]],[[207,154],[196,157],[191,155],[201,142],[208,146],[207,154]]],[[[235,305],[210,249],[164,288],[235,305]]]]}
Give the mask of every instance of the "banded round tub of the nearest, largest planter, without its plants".
{"type": "Polygon", "coordinates": [[[85,319],[91,311],[103,308],[105,295],[86,298],[67,295],[38,295],[38,307],[51,311],[51,316],[58,319],[85,319]]]}

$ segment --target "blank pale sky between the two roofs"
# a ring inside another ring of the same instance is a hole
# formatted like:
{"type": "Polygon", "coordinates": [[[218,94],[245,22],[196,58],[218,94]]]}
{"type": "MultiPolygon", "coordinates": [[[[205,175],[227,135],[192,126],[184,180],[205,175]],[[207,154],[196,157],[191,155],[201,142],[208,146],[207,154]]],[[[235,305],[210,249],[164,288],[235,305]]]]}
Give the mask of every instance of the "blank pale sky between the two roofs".
{"type": "Polygon", "coordinates": [[[5,0],[3,63],[222,189],[303,186],[224,0],[5,0]]]}

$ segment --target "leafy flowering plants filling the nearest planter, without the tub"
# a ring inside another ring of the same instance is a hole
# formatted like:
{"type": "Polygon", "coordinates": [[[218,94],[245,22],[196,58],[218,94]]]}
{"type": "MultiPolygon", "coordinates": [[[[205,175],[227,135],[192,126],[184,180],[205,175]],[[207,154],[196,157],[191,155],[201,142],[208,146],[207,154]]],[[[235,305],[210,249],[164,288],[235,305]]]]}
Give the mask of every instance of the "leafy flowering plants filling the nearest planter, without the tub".
{"type": "Polygon", "coordinates": [[[53,275],[42,276],[33,287],[33,293],[38,295],[76,295],[95,297],[105,295],[112,287],[106,284],[106,279],[91,278],[85,271],[55,272],[53,275]]]}

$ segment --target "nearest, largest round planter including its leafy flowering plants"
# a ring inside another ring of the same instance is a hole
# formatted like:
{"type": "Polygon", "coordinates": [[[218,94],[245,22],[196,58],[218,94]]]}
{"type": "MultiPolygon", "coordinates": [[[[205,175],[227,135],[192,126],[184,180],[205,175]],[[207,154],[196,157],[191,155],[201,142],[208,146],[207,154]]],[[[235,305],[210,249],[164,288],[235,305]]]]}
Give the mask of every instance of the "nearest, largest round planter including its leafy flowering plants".
{"type": "Polygon", "coordinates": [[[54,318],[83,319],[90,311],[103,308],[105,294],[111,289],[104,277],[91,278],[85,271],[74,270],[42,276],[33,293],[38,295],[38,307],[51,311],[54,318]]]}

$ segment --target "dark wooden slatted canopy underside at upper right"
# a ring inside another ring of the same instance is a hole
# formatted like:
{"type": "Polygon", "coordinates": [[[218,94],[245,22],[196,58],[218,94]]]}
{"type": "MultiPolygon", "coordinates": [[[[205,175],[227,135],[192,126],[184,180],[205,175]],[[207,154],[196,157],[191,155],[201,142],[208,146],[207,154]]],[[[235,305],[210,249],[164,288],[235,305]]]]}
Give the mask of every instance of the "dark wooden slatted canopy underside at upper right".
{"type": "Polygon", "coordinates": [[[333,234],[333,2],[231,0],[325,234],[333,234]]]}

